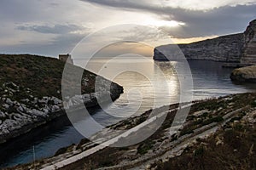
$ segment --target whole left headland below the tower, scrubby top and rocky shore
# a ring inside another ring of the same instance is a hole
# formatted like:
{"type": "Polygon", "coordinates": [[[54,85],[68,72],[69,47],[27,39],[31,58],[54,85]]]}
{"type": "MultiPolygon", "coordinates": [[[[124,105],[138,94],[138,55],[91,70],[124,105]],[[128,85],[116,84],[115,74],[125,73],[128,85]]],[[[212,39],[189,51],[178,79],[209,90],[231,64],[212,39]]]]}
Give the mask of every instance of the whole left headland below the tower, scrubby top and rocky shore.
{"type": "MultiPolygon", "coordinates": [[[[64,66],[65,62],[49,57],[0,55],[0,144],[65,115],[64,106],[76,108],[84,104],[92,107],[98,105],[98,98],[110,95],[114,100],[123,93],[118,84],[69,65],[73,68],[74,72],[70,73],[73,77],[76,71],[83,71],[82,95],[67,97],[67,105],[63,105],[61,78],[64,66]],[[100,92],[95,92],[96,77],[101,85],[100,92]],[[107,84],[111,87],[106,87],[107,84]]],[[[75,87],[72,81],[67,84],[71,90],[75,87]]]]}

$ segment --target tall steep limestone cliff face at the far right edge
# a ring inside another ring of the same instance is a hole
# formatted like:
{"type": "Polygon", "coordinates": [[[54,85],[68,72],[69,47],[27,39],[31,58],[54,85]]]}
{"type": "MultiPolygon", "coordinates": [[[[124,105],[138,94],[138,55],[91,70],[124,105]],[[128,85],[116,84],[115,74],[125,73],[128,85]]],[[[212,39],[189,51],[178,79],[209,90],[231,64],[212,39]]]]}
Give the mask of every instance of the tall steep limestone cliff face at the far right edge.
{"type": "Polygon", "coordinates": [[[244,35],[245,44],[242,50],[241,63],[256,65],[256,20],[250,22],[244,35]]]}

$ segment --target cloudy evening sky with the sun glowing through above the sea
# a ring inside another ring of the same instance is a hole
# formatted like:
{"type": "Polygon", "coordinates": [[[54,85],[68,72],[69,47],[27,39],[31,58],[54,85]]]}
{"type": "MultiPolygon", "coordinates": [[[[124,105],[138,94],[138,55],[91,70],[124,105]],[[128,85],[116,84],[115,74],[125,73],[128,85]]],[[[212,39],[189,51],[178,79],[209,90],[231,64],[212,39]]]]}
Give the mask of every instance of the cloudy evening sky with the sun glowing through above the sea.
{"type": "Polygon", "coordinates": [[[0,53],[57,57],[83,38],[83,48],[112,39],[108,54],[133,41],[195,42],[245,31],[255,9],[256,0],[1,0],[0,53]]]}

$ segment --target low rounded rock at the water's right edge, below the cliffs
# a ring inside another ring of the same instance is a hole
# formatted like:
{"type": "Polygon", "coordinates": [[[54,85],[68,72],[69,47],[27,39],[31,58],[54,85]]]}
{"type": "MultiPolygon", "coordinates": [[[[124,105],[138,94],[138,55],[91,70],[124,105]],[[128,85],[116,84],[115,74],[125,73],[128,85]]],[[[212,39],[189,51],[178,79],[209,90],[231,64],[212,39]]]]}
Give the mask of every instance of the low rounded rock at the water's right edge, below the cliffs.
{"type": "Polygon", "coordinates": [[[256,82],[256,65],[235,69],[230,78],[237,82],[256,82]]]}

